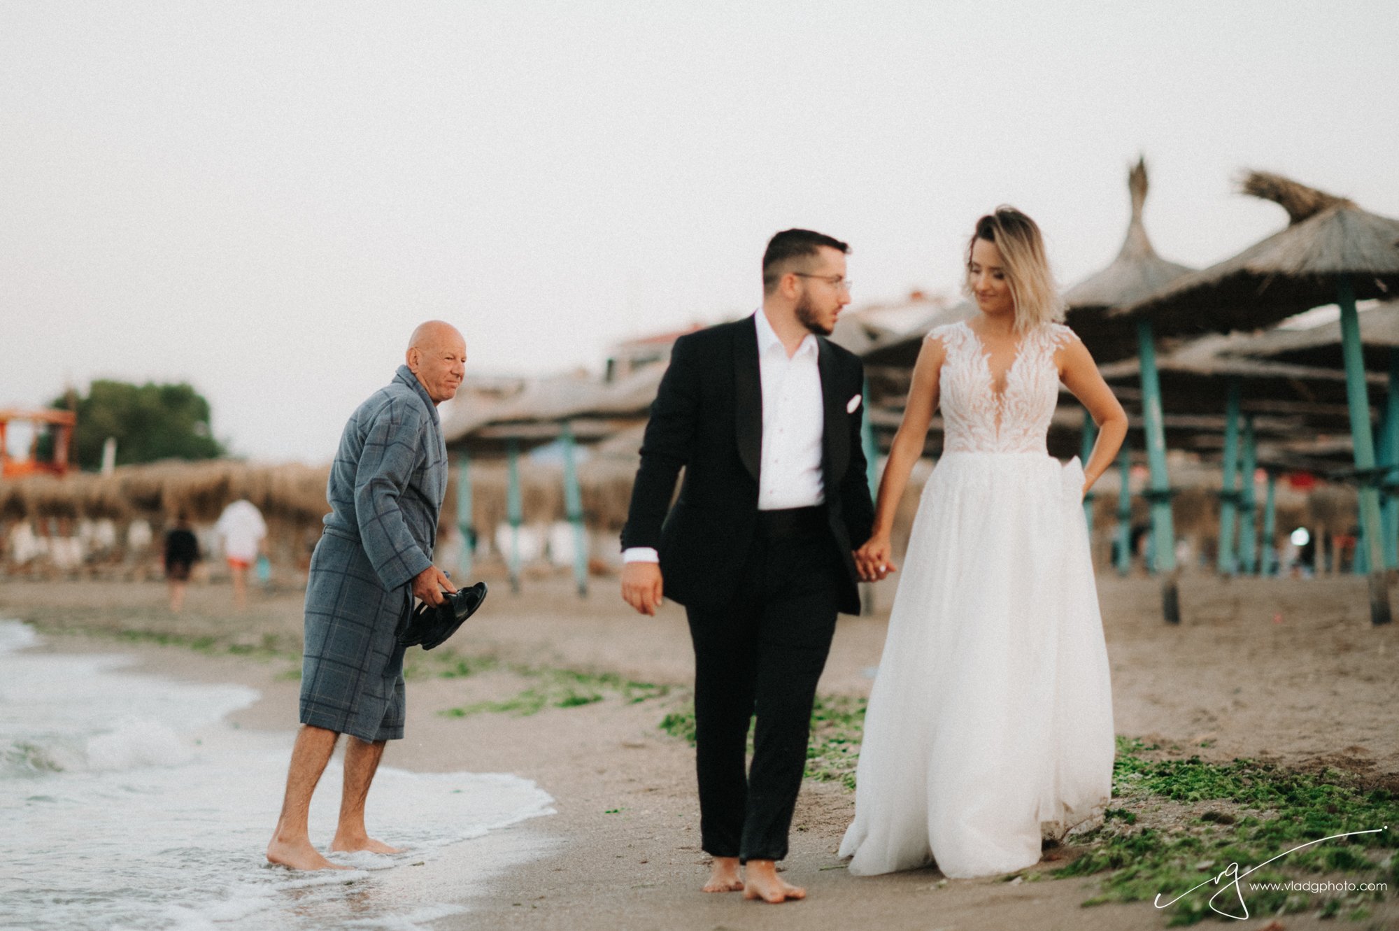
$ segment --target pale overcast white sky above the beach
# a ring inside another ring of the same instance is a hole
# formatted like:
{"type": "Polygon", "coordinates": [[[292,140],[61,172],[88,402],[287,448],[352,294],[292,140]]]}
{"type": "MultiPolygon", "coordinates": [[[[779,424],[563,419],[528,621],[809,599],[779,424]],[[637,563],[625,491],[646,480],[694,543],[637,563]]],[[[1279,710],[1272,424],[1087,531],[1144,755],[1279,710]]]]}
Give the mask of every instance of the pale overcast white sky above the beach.
{"type": "Polygon", "coordinates": [[[330,459],[416,323],[478,373],[597,369],[758,302],[767,238],[856,305],[951,291],[1011,203],[1065,284],[1125,172],[1205,266],[1279,171],[1399,217],[1399,6],[3,3],[0,407],[189,380],[257,459],[330,459]]]}

